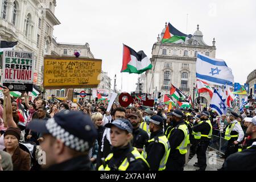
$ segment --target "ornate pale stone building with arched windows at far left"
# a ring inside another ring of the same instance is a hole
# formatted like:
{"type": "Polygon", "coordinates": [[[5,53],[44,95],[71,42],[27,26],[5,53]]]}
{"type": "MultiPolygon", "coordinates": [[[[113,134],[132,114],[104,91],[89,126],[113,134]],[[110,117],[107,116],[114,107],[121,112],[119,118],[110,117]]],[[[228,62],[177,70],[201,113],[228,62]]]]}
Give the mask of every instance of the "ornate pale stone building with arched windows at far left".
{"type": "Polygon", "coordinates": [[[0,0],[0,40],[18,41],[17,51],[35,54],[35,84],[42,85],[44,55],[51,54],[56,0],[0,0]]]}

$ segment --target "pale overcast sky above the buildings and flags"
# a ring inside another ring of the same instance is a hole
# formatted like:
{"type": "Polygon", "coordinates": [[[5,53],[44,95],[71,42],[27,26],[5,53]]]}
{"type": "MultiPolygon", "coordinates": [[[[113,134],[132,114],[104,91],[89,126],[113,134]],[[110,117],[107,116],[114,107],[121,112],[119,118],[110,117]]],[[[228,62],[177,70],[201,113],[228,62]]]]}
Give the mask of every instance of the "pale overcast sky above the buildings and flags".
{"type": "MultiPolygon", "coordinates": [[[[57,42],[90,44],[102,69],[117,74],[121,89],[122,44],[151,57],[151,48],[165,22],[193,34],[197,24],[204,41],[216,40],[216,58],[224,59],[234,81],[244,84],[256,69],[256,1],[152,1],[152,0],[58,0],[55,15],[61,24],[53,35],[57,42]],[[188,14],[188,28],[187,26],[188,14]]],[[[123,73],[122,90],[135,90],[138,75],[123,73]]]]}

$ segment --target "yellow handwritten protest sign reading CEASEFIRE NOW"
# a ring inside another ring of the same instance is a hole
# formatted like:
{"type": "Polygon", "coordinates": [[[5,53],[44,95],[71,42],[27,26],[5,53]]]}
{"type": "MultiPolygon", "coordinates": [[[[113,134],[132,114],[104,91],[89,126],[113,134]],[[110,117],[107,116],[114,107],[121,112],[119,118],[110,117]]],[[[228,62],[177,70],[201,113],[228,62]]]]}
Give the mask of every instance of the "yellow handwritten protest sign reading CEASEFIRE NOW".
{"type": "Polygon", "coordinates": [[[100,59],[72,56],[44,57],[44,88],[96,88],[100,84],[100,59]]]}

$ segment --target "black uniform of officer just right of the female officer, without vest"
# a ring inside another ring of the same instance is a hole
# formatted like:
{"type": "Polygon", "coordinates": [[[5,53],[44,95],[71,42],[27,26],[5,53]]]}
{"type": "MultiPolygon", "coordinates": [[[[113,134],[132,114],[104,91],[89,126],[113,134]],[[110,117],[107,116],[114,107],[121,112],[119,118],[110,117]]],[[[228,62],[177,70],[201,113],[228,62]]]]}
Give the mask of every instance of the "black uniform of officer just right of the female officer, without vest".
{"type": "Polygon", "coordinates": [[[158,171],[160,161],[162,160],[164,153],[166,152],[163,144],[158,142],[158,137],[162,137],[163,135],[163,130],[152,132],[150,134],[150,139],[155,138],[155,141],[146,143],[145,150],[147,152],[147,162],[148,164],[150,164],[151,171],[158,171]]]}

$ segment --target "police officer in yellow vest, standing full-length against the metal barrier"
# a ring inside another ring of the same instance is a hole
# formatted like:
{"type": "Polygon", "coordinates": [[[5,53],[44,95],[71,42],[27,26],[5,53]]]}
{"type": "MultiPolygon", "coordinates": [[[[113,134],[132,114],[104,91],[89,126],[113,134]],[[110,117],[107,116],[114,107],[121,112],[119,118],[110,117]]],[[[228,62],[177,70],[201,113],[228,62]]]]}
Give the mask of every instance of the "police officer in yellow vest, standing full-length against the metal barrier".
{"type": "Polygon", "coordinates": [[[203,111],[200,116],[200,123],[193,127],[193,131],[200,135],[200,141],[197,146],[197,160],[194,166],[199,167],[196,171],[205,171],[207,167],[206,151],[212,138],[212,123],[209,120],[209,112],[203,111]]]}

